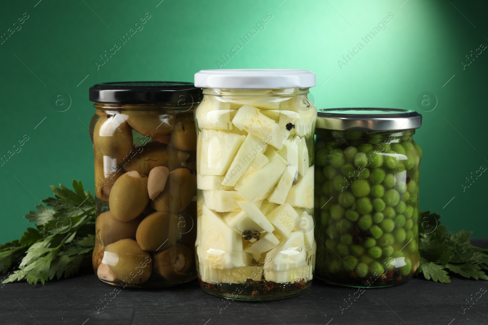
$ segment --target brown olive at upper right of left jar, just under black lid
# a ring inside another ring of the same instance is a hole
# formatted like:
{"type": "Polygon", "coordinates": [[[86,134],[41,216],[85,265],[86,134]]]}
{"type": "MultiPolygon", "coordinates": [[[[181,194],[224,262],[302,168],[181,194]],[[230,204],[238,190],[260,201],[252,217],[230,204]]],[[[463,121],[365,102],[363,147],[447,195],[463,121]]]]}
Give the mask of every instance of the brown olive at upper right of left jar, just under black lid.
{"type": "Polygon", "coordinates": [[[194,151],[197,148],[197,131],[191,114],[176,116],[175,126],[171,130],[170,145],[183,151],[194,151]]]}

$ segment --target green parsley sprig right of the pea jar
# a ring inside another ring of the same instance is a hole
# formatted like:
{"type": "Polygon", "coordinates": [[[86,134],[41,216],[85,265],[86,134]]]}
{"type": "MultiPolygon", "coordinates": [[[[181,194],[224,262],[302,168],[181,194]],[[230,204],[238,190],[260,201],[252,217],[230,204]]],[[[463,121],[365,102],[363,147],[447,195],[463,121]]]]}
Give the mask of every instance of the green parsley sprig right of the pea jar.
{"type": "Polygon", "coordinates": [[[488,249],[471,245],[472,231],[450,232],[430,211],[419,218],[420,266],[415,275],[427,280],[450,283],[449,274],[476,280],[488,280],[488,249]],[[433,229],[433,230],[432,230],[433,229]]]}

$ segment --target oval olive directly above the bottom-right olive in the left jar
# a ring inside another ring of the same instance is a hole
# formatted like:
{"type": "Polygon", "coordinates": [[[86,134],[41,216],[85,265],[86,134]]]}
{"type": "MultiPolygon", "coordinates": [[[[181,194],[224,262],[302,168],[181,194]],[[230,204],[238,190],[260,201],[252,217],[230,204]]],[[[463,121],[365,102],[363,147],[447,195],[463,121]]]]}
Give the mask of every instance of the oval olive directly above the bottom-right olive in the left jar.
{"type": "Polygon", "coordinates": [[[153,212],[145,217],[136,232],[139,247],[160,251],[174,245],[185,232],[184,218],[168,212],[153,212]]]}

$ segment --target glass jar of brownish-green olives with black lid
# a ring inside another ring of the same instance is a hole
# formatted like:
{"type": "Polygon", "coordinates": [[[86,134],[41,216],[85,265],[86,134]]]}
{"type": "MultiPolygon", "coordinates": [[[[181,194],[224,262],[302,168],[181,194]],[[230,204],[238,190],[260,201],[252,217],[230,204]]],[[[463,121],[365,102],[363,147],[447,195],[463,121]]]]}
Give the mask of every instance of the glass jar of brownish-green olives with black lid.
{"type": "Polygon", "coordinates": [[[196,278],[197,134],[202,90],[187,82],[90,88],[97,204],[93,269],[115,286],[196,278]]]}

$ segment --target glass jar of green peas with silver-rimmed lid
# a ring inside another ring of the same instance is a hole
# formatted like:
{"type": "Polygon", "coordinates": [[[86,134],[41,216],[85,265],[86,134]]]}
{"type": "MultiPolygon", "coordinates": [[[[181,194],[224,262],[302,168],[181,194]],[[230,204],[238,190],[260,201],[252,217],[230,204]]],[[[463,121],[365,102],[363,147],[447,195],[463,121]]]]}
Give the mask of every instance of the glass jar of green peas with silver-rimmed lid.
{"type": "Polygon", "coordinates": [[[419,267],[422,115],[319,110],[315,132],[316,275],[346,287],[407,282],[419,267]]]}

